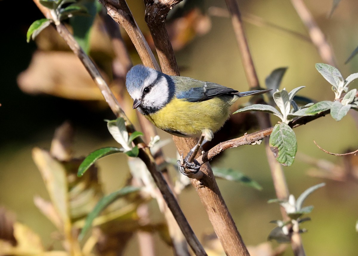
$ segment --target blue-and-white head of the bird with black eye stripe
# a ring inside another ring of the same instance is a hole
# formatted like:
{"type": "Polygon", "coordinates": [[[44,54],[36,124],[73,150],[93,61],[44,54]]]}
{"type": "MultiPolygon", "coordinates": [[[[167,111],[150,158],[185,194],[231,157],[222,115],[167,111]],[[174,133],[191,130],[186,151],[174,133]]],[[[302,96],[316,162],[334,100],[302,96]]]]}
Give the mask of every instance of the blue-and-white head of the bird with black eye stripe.
{"type": "Polygon", "coordinates": [[[163,108],[175,92],[170,76],[143,65],[136,65],[128,71],[126,87],[134,100],[133,109],[137,108],[142,114],[163,108]]]}

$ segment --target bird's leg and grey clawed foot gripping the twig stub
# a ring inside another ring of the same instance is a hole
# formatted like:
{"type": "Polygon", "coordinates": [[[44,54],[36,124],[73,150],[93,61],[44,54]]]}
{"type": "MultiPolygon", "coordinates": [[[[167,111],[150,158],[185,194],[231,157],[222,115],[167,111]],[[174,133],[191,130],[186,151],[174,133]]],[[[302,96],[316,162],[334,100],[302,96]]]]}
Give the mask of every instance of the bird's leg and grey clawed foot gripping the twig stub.
{"type": "Polygon", "coordinates": [[[198,154],[200,147],[207,142],[207,140],[205,140],[204,137],[205,134],[202,134],[198,143],[188,152],[188,155],[184,159],[182,156],[182,158],[177,161],[179,165],[179,170],[182,174],[184,175],[195,174],[199,171],[201,165],[197,160],[195,160],[195,156],[198,154]],[[190,171],[189,174],[185,173],[184,167],[190,171]]]}

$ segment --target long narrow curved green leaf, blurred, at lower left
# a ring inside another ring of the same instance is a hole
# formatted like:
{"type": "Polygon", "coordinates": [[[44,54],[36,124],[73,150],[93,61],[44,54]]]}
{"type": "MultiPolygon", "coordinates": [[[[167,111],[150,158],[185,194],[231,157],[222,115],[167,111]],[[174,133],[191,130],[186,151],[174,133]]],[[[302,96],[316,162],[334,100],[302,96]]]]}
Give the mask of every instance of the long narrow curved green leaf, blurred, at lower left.
{"type": "Polygon", "coordinates": [[[122,188],[121,190],[118,190],[116,192],[113,192],[107,196],[104,196],[98,203],[96,204],[95,208],[92,210],[91,213],[88,214],[86,221],[84,223],[84,226],[81,230],[81,233],[78,236],[79,240],[82,240],[83,237],[86,235],[89,228],[91,228],[93,220],[102,212],[103,209],[108,207],[111,203],[113,203],[118,198],[121,198],[122,196],[125,196],[127,194],[133,193],[138,191],[139,188],[135,188],[132,186],[126,186],[122,188]]]}

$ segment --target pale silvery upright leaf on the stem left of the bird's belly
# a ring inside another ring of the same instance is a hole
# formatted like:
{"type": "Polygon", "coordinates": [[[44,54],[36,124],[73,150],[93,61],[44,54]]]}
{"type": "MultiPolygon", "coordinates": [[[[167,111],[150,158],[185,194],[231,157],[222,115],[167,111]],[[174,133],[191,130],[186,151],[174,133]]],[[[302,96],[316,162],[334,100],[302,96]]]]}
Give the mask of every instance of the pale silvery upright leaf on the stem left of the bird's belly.
{"type": "Polygon", "coordinates": [[[119,117],[116,120],[106,121],[108,131],[112,134],[113,138],[122,145],[125,151],[132,150],[132,145],[128,142],[129,135],[124,119],[119,117]]]}

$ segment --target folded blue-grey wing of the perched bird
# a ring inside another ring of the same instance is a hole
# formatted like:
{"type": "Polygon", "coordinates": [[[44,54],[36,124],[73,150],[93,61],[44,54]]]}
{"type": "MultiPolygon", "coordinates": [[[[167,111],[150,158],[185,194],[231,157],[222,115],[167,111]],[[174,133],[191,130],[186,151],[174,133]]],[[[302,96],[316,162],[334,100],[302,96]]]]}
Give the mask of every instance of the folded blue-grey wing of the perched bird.
{"type": "Polygon", "coordinates": [[[202,82],[201,87],[191,87],[189,90],[185,91],[176,91],[176,98],[185,99],[190,102],[204,101],[220,95],[228,95],[232,97],[235,93],[238,93],[237,90],[211,83],[211,82],[202,82]]]}

